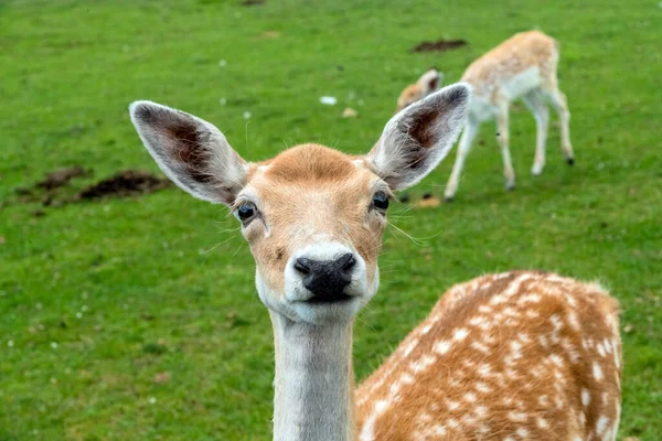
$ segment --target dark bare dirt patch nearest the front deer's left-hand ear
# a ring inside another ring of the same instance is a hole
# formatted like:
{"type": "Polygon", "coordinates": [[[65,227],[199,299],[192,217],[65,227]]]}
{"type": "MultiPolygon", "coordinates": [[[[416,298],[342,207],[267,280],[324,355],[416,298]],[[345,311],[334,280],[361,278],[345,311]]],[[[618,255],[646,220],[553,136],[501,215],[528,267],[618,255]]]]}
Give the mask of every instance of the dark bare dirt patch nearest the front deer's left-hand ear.
{"type": "Polygon", "coordinates": [[[88,186],[76,195],[76,200],[100,200],[153,193],[170,186],[170,181],[137,170],[122,170],[113,176],[88,186]]]}

